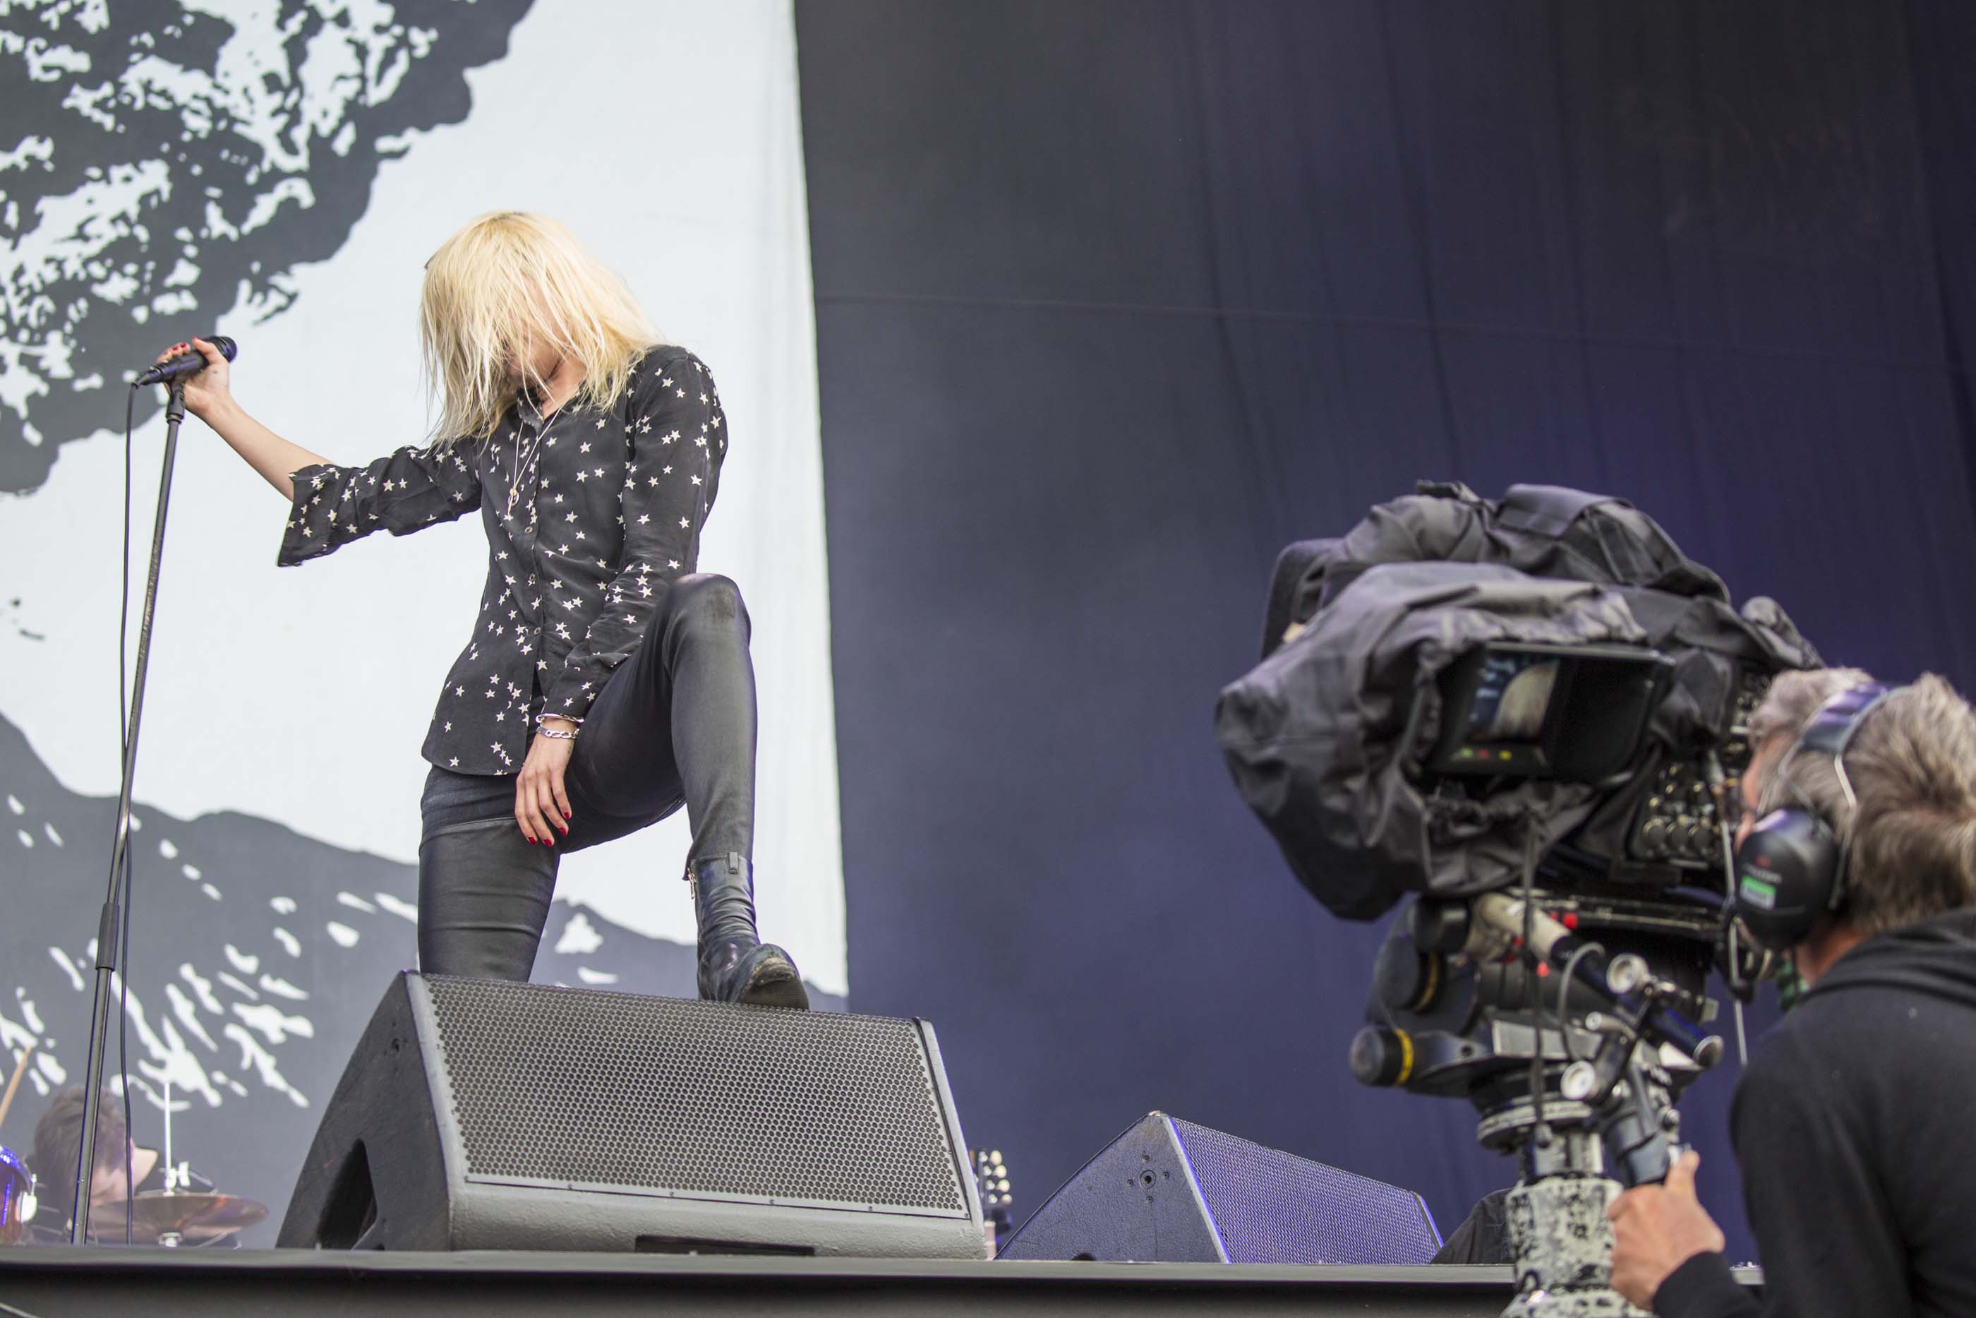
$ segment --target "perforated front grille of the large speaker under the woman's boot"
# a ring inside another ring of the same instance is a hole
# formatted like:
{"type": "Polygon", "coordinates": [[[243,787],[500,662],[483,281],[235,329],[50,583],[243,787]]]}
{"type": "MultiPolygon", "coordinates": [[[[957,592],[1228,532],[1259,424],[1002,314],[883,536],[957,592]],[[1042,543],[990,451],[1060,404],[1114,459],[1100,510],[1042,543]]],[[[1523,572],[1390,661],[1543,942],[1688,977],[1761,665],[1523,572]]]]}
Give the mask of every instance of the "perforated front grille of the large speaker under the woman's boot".
{"type": "Polygon", "coordinates": [[[470,1178],[966,1213],[911,1022],[425,984],[470,1178]]]}

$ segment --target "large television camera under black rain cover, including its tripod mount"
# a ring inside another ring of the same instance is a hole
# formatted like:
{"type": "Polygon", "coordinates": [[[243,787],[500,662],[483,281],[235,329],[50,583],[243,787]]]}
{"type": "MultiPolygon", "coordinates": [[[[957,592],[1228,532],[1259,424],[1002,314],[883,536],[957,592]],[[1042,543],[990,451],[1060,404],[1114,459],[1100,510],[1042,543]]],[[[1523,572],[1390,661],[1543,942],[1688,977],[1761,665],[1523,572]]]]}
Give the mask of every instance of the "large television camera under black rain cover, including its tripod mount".
{"type": "Polygon", "coordinates": [[[1666,1176],[1723,1055],[1709,974],[1741,1006],[1769,968],[1723,800],[1816,652],[1628,504],[1547,486],[1423,486],[1292,545],[1269,628],[1217,703],[1239,790],[1334,913],[1411,897],[1354,1075],[1466,1099],[1518,1160],[1506,1314],[1630,1312],[1605,1209],[1666,1176]]]}

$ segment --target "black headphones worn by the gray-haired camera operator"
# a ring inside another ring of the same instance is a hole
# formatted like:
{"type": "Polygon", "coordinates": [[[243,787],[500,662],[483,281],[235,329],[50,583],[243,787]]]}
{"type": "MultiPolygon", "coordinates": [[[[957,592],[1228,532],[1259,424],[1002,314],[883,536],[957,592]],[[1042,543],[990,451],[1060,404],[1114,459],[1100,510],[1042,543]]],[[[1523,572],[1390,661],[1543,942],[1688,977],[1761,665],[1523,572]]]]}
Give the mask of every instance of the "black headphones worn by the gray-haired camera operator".
{"type": "MultiPolygon", "coordinates": [[[[1848,808],[1855,808],[1846,747],[1895,690],[1869,682],[1828,700],[1776,761],[1778,773],[1790,773],[1798,751],[1830,755],[1848,808]]],[[[1765,814],[1735,850],[1735,913],[1749,937],[1772,952],[1804,943],[1846,905],[1848,848],[1796,784],[1792,794],[1798,804],[1765,814]]]]}

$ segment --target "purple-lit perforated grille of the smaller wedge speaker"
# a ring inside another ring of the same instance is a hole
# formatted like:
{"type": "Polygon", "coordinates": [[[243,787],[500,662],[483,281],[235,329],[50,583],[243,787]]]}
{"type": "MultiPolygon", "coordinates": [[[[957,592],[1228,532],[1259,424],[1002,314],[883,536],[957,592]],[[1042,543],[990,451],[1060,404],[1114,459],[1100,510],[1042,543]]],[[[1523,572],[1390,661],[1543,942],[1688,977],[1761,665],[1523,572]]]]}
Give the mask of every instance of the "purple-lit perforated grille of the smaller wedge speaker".
{"type": "Polygon", "coordinates": [[[1176,1120],[1233,1263],[1427,1263],[1441,1249],[1413,1194],[1176,1120]]]}

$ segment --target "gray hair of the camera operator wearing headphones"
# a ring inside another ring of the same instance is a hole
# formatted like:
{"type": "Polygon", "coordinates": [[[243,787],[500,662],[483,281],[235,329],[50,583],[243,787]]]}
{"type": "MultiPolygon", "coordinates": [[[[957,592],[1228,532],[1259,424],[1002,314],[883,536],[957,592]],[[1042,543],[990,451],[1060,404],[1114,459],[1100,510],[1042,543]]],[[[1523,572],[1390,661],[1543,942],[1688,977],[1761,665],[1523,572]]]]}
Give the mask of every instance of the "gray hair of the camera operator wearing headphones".
{"type": "MultiPolygon", "coordinates": [[[[1796,741],[1828,700],[1865,682],[1857,668],[1780,674],[1751,717],[1751,749],[1796,741]]],[[[1757,800],[1765,812],[1810,802],[1850,848],[1848,925],[1875,935],[1976,905],[1976,711],[1948,682],[1923,674],[1883,700],[1846,747],[1846,777],[1857,810],[1832,757],[1798,751],[1769,767],[1757,800]]]]}

